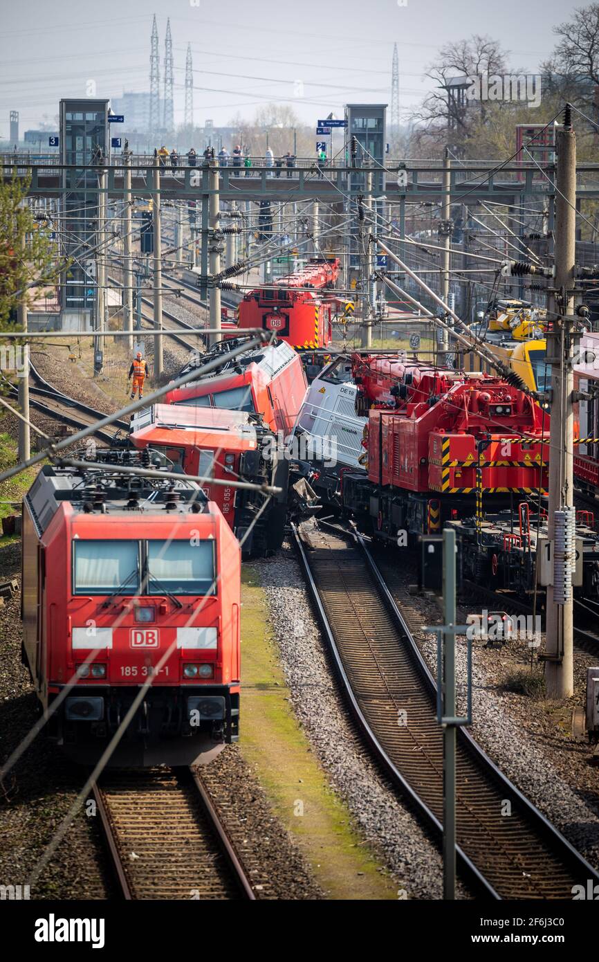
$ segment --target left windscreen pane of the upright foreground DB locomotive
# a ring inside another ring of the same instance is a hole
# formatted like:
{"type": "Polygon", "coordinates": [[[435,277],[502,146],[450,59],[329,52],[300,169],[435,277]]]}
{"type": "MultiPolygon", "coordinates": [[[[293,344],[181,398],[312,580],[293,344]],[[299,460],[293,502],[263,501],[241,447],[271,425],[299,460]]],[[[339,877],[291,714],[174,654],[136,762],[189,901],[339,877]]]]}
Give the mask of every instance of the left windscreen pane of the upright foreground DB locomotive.
{"type": "Polygon", "coordinates": [[[137,595],[137,541],[73,541],[75,595],[137,595]]]}

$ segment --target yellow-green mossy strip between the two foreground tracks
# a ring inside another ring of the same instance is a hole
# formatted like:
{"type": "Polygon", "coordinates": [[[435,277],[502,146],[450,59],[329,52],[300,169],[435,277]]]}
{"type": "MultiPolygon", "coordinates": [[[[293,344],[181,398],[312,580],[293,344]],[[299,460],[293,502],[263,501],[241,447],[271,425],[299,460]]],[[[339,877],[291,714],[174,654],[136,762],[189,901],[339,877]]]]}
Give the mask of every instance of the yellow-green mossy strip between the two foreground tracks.
{"type": "Polygon", "coordinates": [[[331,789],[289,700],[258,572],[243,566],[239,746],[330,899],[396,899],[397,886],[331,789]]]}

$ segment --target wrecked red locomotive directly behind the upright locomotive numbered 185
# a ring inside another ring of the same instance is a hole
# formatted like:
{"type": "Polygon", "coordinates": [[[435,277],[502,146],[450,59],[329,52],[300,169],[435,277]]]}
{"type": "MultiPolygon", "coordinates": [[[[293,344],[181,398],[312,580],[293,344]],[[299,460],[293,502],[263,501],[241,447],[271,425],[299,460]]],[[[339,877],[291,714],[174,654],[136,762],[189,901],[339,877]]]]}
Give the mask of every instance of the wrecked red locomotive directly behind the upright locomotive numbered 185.
{"type": "Polygon", "coordinates": [[[244,555],[265,554],[283,543],[287,517],[288,461],[275,434],[258,415],[246,411],[155,404],[131,421],[130,442],[139,449],[165,457],[176,470],[201,476],[202,490],[220,508],[244,555]],[[227,481],[274,485],[260,518],[264,495],[245,491],[227,481]],[[214,482],[225,482],[215,484],[214,482]],[[255,521],[255,523],[253,523],[255,521]],[[251,531],[248,535],[248,529],[251,531]]]}

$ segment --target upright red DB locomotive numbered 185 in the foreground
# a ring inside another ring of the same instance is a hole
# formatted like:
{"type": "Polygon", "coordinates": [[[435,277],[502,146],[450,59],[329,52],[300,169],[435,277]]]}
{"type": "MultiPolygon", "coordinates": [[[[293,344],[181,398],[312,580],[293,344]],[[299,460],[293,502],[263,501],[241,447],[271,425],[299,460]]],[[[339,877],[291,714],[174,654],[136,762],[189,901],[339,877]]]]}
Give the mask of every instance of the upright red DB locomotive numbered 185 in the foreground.
{"type": "Polygon", "coordinates": [[[239,545],[199,487],[132,451],[47,466],[23,498],[23,661],[47,728],[93,764],[209,761],[237,741],[239,545]]]}

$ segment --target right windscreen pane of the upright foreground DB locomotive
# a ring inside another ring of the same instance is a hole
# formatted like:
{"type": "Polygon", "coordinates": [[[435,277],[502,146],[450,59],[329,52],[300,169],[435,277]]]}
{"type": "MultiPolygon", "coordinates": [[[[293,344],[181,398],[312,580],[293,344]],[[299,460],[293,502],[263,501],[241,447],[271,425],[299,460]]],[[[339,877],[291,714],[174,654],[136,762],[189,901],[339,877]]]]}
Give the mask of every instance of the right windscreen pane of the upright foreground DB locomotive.
{"type": "Polygon", "coordinates": [[[214,594],[214,543],[201,541],[148,542],[148,595],[214,594]]]}

